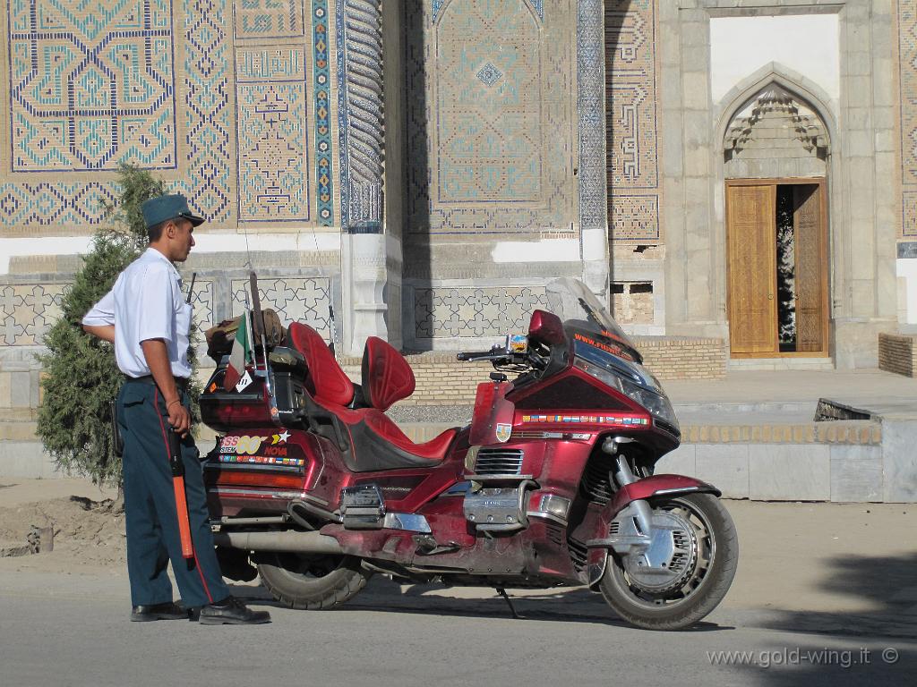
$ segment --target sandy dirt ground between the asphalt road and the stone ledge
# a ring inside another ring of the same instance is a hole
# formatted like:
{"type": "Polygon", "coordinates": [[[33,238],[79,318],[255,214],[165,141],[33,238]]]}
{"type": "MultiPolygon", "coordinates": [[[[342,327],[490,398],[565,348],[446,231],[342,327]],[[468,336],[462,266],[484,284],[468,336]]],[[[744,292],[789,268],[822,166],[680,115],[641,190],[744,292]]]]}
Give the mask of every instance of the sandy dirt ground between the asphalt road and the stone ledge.
{"type": "MultiPolygon", "coordinates": [[[[125,575],[124,518],[111,512],[113,496],[81,480],[0,485],[0,542],[25,543],[33,525],[54,528],[53,551],[0,558],[0,573],[125,575]]],[[[725,606],[917,622],[917,506],[724,503],[741,551],[725,606]]]]}

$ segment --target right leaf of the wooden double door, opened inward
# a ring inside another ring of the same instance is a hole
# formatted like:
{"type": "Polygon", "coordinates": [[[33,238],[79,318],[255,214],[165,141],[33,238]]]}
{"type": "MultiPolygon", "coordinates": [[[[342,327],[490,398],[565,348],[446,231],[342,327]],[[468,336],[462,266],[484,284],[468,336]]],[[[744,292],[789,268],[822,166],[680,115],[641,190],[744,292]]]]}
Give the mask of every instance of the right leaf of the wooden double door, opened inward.
{"type": "Polygon", "coordinates": [[[827,240],[822,186],[793,186],[793,251],[796,258],[796,350],[827,352],[827,240]]]}

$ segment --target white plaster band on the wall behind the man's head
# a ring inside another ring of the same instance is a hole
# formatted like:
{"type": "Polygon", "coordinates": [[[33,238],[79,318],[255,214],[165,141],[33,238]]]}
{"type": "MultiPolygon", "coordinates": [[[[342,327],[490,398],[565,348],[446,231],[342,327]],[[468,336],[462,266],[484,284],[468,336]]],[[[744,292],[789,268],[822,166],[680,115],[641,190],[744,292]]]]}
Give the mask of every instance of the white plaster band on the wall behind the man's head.
{"type": "MultiPolygon", "coordinates": [[[[4,238],[0,239],[0,275],[9,274],[9,261],[15,256],[72,256],[89,251],[91,236],[4,238]]],[[[245,234],[195,234],[193,253],[245,253],[245,234]]],[[[300,234],[249,234],[252,251],[308,252],[339,251],[337,232],[300,234]]],[[[242,267],[241,265],[229,267],[242,267]]]]}

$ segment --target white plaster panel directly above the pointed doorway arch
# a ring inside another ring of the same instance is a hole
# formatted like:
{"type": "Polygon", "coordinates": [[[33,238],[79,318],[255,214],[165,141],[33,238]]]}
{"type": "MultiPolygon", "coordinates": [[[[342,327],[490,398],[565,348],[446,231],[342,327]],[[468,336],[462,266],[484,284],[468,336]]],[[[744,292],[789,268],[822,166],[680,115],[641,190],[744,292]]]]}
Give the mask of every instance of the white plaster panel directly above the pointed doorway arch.
{"type": "Polygon", "coordinates": [[[710,20],[713,104],[769,62],[805,74],[840,99],[840,28],[836,14],[714,16],[710,20]]]}

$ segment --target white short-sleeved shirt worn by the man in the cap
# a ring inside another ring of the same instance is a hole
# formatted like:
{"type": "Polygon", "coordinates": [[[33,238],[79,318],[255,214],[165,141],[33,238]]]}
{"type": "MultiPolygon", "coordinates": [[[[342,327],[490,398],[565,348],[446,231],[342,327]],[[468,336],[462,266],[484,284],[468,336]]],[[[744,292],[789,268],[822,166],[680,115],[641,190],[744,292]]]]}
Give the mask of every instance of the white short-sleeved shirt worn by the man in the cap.
{"type": "Polygon", "coordinates": [[[115,325],[115,357],[125,375],[149,375],[140,343],[162,339],[172,375],[188,377],[192,311],[182,299],[178,270],[158,250],[147,248],[118,275],[115,286],[83,317],[83,324],[115,325]]]}

